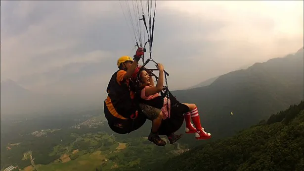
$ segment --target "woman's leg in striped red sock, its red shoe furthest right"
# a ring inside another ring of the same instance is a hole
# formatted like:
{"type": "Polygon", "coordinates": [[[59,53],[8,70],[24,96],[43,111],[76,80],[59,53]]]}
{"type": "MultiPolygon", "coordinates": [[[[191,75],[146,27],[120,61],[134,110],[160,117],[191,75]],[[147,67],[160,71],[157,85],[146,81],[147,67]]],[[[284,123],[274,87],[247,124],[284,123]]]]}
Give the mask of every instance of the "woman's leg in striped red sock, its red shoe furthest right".
{"type": "Polygon", "coordinates": [[[195,138],[196,139],[209,139],[211,137],[210,133],[204,131],[204,128],[201,126],[200,116],[198,114],[198,109],[195,104],[187,104],[190,109],[191,119],[196,127],[195,138]]]}

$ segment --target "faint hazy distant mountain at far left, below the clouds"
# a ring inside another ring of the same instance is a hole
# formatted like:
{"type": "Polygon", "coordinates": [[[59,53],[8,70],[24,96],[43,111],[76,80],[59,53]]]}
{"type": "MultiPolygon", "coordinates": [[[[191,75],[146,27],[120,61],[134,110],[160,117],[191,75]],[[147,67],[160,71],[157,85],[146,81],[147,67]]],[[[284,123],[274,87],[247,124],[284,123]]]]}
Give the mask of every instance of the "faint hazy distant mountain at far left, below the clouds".
{"type": "Polygon", "coordinates": [[[33,92],[10,79],[2,81],[0,88],[1,119],[10,119],[12,116],[27,117],[29,114],[36,116],[37,114],[72,114],[97,110],[96,104],[84,103],[85,100],[80,97],[33,92]]]}

